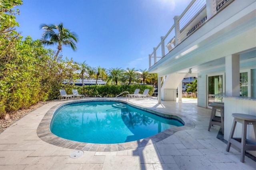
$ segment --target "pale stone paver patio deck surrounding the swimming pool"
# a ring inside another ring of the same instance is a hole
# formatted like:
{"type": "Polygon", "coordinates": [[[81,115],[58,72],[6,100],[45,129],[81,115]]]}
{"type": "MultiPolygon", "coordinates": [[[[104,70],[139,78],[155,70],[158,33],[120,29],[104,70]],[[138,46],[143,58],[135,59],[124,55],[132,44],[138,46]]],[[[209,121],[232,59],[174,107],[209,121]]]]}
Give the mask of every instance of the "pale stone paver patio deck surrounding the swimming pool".
{"type": "Polygon", "coordinates": [[[163,140],[154,141],[158,140],[155,136],[117,145],[81,144],[58,139],[42,131],[43,128],[39,135],[47,136],[48,141],[41,140],[37,134],[38,125],[43,118],[51,119],[51,116],[44,115],[49,109],[54,111],[56,105],[65,102],[49,102],[0,134],[1,170],[256,169],[256,162],[247,156],[245,163],[240,162],[240,152],[234,148],[226,152],[226,144],[216,138],[220,127],[214,126],[208,131],[211,110],[197,107],[194,99],[183,99],[182,103],[162,101],[162,104],[158,104],[156,98],[129,101],[154,111],[178,114],[187,121],[187,127],[179,131],[175,128],[169,130],[174,134],[163,140]],[[61,147],[48,142],[58,143],[61,147]],[[75,150],[84,150],[84,154],[79,158],[70,158],[75,150]]]}

